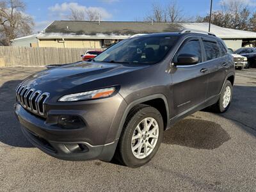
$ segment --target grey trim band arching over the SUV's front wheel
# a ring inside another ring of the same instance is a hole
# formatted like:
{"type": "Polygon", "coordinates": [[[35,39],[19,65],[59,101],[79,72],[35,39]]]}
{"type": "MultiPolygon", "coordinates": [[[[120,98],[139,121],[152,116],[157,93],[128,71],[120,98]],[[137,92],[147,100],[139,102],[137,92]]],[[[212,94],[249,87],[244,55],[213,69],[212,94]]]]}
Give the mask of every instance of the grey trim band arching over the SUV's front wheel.
{"type": "Polygon", "coordinates": [[[146,97],[142,97],[140,99],[137,99],[137,100],[134,100],[132,101],[128,106],[127,108],[125,109],[124,111],[124,114],[121,118],[121,122],[119,124],[119,127],[118,127],[118,130],[116,132],[116,138],[115,140],[118,140],[120,138],[120,134],[122,132],[122,129],[124,127],[124,123],[125,123],[125,120],[127,118],[127,115],[129,113],[129,111],[134,107],[136,106],[137,104],[140,104],[142,102],[146,102],[148,100],[152,100],[152,99],[163,99],[164,100],[164,104],[165,104],[165,108],[166,108],[166,116],[167,116],[167,122],[166,122],[166,127],[169,127],[170,126],[170,111],[169,111],[169,106],[168,106],[168,102],[167,102],[167,99],[166,97],[161,94],[161,93],[157,93],[157,94],[154,94],[154,95],[148,95],[146,97]]]}

